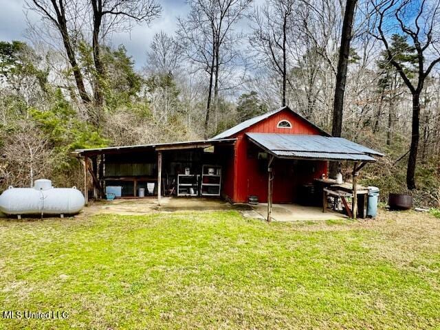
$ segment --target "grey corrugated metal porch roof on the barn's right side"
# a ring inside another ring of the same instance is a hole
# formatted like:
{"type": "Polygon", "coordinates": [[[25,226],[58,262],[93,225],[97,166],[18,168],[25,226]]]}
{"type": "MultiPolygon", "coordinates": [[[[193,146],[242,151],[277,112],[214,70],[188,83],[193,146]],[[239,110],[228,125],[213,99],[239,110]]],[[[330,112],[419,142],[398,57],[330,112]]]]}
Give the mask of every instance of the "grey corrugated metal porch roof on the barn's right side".
{"type": "Polygon", "coordinates": [[[246,133],[250,140],[279,158],[375,162],[374,151],[342,137],[277,133],[246,133]]]}

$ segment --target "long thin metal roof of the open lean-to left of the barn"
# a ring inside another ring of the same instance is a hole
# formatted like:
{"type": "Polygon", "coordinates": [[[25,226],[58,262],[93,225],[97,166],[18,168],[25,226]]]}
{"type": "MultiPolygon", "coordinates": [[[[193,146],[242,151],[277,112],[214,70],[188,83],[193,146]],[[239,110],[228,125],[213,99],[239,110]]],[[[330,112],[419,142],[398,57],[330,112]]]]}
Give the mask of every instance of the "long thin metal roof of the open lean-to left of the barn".
{"type": "Polygon", "coordinates": [[[206,144],[217,144],[221,142],[235,142],[236,139],[220,139],[215,141],[210,140],[196,140],[196,141],[183,141],[183,142],[168,142],[168,143],[155,143],[155,144],[136,144],[133,146],[107,146],[104,148],[89,148],[89,149],[76,149],[74,153],[81,155],[83,153],[105,153],[105,151],[118,151],[118,150],[130,150],[130,149],[142,149],[142,148],[178,148],[179,146],[194,146],[194,148],[202,148],[206,144]]]}

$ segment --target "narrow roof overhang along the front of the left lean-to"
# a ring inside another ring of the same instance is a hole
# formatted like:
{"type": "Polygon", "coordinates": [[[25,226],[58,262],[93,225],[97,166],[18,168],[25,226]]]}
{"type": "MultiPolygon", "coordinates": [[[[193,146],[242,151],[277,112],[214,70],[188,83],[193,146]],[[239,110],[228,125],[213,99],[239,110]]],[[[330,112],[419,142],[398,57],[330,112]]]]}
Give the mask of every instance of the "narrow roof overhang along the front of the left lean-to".
{"type": "Polygon", "coordinates": [[[156,144],[138,144],[133,146],[109,146],[104,148],[88,148],[76,149],[74,155],[91,156],[109,153],[129,153],[140,151],[170,151],[182,149],[199,149],[209,148],[210,146],[234,144],[236,139],[221,139],[221,140],[197,140],[184,142],[170,142],[170,143],[156,143],[156,144]]]}

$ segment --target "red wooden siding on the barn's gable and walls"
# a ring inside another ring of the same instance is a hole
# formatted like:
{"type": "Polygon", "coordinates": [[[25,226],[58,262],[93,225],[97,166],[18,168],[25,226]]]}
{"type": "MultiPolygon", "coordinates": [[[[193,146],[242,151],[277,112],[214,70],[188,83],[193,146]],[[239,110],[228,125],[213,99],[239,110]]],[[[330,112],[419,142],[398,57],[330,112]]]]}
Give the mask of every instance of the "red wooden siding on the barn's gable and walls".
{"type": "MultiPolygon", "coordinates": [[[[285,109],[232,136],[237,138],[234,170],[228,169],[228,172],[225,173],[223,193],[234,202],[246,202],[249,195],[257,195],[261,202],[265,202],[267,201],[267,163],[250,153],[250,148],[254,148],[254,144],[246,137],[245,133],[248,132],[318,135],[320,131],[285,109]],[[292,124],[292,128],[277,128],[276,126],[281,120],[288,120],[292,124]],[[264,166],[265,164],[266,166],[264,166]],[[230,182],[233,182],[232,186],[230,182]]],[[[289,203],[295,201],[298,186],[313,181],[322,173],[327,174],[327,162],[295,162],[290,159],[275,159],[273,202],[289,203]]]]}

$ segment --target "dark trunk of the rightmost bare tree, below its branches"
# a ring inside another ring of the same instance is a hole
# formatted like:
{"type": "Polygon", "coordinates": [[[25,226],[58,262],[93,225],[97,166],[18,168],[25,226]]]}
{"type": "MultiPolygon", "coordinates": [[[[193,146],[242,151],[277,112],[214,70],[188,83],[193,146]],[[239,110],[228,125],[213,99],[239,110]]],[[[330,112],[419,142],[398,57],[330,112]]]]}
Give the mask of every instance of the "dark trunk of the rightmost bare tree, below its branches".
{"type": "Polygon", "coordinates": [[[411,146],[408,159],[408,168],[406,168],[406,186],[408,189],[415,189],[415,166],[417,163],[417,150],[419,148],[419,124],[420,124],[420,94],[412,94],[412,128],[411,128],[411,146]]]}

